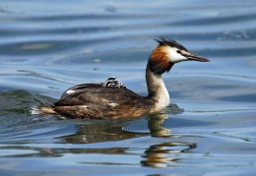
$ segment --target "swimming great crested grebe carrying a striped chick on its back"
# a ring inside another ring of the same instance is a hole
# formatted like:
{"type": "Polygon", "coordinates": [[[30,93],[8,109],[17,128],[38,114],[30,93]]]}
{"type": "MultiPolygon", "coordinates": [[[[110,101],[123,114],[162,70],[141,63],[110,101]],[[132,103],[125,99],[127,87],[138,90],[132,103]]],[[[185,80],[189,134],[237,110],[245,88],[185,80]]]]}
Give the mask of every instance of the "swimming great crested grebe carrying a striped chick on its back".
{"type": "Polygon", "coordinates": [[[169,93],[161,74],[181,61],[209,62],[189,52],[172,39],[156,39],[159,45],[149,57],[146,68],[148,96],[126,88],[117,79],[109,78],[103,84],[83,84],[66,90],[50,106],[40,106],[41,114],[59,114],[74,119],[121,119],[157,112],[169,103],[169,93]]]}

